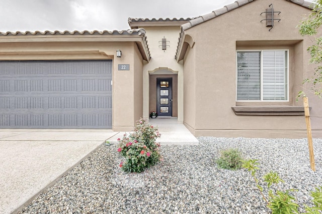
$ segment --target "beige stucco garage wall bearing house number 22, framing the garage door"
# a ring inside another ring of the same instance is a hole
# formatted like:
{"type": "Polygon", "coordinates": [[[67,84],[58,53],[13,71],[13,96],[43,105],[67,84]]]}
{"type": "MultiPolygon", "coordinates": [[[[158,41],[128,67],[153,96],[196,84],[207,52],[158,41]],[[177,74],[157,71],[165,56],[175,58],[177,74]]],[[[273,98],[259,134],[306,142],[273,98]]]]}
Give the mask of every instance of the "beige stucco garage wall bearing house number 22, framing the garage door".
{"type": "Polygon", "coordinates": [[[113,60],[113,130],[133,130],[135,121],[142,116],[143,103],[143,59],[137,45],[134,42],[95,42],[95,39],[88,39],[88,42],[58,42],[64,40],[68,39],[2,37],[0,60],[113,60]],[[122,51],[121,58],[115,56],[117,49],[122,51]],[[130,70],[118,71],[118,64],[129,64],[130,70]]]}

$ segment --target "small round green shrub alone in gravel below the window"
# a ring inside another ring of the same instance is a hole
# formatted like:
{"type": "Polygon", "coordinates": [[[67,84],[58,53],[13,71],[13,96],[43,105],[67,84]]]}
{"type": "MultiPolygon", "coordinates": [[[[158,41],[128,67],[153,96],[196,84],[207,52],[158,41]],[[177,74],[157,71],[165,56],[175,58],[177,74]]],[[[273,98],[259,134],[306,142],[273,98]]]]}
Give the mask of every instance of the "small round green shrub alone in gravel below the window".
{"type": "Polygon", "coordinates": [[[221,151],[221,155],[216,160],[216,163],[219,168],[236,170],[241,168],[242,160],[240,151],[231,148],[221,151]]]}

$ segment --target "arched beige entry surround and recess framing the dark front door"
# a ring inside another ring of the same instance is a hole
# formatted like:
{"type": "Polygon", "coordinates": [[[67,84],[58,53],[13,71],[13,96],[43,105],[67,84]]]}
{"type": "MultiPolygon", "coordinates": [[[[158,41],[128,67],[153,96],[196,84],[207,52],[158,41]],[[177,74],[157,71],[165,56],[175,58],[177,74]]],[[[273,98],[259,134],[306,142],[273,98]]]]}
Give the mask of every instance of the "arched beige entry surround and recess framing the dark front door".
{"type": "Polygon", "coordinates": [[[173,112],[172,116],[183,123],[183,74],[169,68],[156,68],[143,75],[143,116],[149,117],[156,110],[156,79],[172,78],[173,82],[173,112]]]}

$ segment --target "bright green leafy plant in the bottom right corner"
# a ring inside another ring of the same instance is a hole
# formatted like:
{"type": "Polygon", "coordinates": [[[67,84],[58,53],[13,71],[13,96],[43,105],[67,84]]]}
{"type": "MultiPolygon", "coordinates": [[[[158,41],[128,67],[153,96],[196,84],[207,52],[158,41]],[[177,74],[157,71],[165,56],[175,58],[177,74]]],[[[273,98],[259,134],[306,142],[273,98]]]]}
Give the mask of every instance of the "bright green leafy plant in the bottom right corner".
{"type": "MultiPolygon", "coordinates": [[[[277,184],[279,182],[284,182],[280,179],[277,172],[269,172],[263,176],[264,181],[267,183],[268,198],[263,193],[263,187],[259,184],[259,179],[256,177],[256,171],[259,169],[257,159],[250,159],[243,161],[243,168],[252,172],[252,176],[255,180],[256,187],[259,189],[263,199],[267,203],[267,207],[272,210],[272,214],[284,214],[284,213],[299,213],[299,205],[295,202],[295,197],[290,194],[291,191],[296,191],[295,189],[287,189],[285,191],[270,189],[272,184],[277,184]]],[[[315,191],[311,191],[311,196],[313,197],[313,207],[309,207],[306,204],[305,212],[306,214],[319,214],[322,211],[322,186],[319,188],[315,187],[315,191]],[[319,211],[320,210],[320,211],[319,211]]]]}

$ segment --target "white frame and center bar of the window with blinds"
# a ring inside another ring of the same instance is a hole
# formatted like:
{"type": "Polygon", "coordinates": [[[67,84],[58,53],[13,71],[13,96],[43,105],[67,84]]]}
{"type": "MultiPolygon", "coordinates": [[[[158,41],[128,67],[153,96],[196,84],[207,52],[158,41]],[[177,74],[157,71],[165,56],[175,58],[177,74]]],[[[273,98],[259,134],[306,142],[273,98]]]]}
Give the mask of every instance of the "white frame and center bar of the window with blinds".
{"type": "Polygon", "coordinates": [[[290,68],[290,62],[289,62],[289,57],[290,57],[290,50],[289,49],[246,49],[246,50],[236,50],[236,93],[235,93],[235,101],[236,102],[289,102],[289,93],[290,93],[290,85],[289,85],[289,68],[290,68]],[[286,99],[285,100],[264,100],[263,99],[263,52],[264,51],[285,51],[286,52],[286,99]],[[238,63],[237,63],[237,53],[238,52],[260,52],[260,100],[238,100],[237,99],[237,87],[238,87],[238,63]]]}

